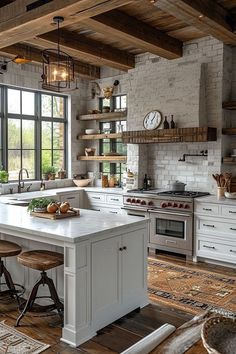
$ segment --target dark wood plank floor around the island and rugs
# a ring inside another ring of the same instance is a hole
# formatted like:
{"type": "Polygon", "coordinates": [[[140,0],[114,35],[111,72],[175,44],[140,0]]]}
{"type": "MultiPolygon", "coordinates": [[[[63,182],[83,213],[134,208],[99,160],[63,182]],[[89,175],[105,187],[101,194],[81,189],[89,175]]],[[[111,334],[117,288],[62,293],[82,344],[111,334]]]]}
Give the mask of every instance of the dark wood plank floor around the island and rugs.
{"type": "MultiPolygon", "coordinates": [[[[159,260],[172,261],[179,265],[187,264],[189,267],[198,270],[208,269],[225,275],[235,276],[235,269],[228,267],[213,266],[204,263],[194,264],[186,262],[184,257],[176,255],[152,254],[151,256],[156,257],[159,260]]],[[[6,324],[14,326],[18,314],[16,304],[3,302],[0,304],[0,321],[5,320],[6,324]]],[[[192,318],[192,315],[188,313],[176,311],[170,307],[160,307],[157,304],[149,304],[140,311],[133,311],[127,316],[100,330],[96,337],[82,344],[78,348],[71,348],[67,344],[60,342],[61,328],[52,327],[52,324],[57,320],[56,316],[26,316],[22,320],[21,326],[18,330],[32,338],[50,344],[51,347],[44,351],[45,354],[116,354],[122,352],[166,322],[179,327],[190,318],[192,318]]]]}

